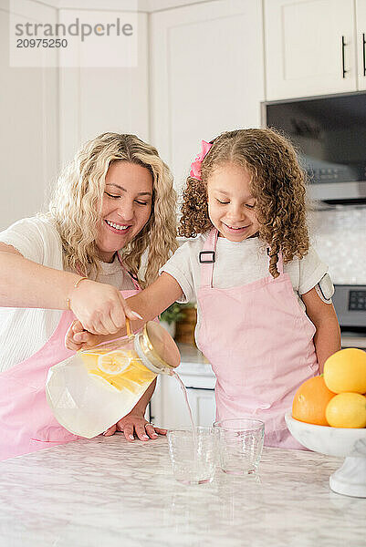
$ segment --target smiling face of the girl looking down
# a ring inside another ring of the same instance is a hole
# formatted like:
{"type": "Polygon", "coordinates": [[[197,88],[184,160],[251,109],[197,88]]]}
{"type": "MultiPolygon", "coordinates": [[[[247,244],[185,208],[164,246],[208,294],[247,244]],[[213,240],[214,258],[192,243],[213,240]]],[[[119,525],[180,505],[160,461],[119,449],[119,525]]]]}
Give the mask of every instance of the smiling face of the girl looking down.
{"type": "Polygon", "coordinates": [[[207,181],[210,220],[231,242],[242,242],[259,230],[249,182],[249,173],[234,163],[220,166],[207,181]]]}

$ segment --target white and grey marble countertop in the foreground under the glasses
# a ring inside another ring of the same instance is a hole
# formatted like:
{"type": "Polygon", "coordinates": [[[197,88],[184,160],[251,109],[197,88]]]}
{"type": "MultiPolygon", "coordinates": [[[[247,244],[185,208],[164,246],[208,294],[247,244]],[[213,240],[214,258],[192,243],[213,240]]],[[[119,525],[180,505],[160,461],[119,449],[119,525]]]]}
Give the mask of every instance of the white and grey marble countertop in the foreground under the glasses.
{"type": "Polygon", "coordinates": [[[366,499],[341,459],[264,449],[258,476],[173,479],[167,440],[82,439],[0,463],[1,547],[361,547],[366,499]]]}

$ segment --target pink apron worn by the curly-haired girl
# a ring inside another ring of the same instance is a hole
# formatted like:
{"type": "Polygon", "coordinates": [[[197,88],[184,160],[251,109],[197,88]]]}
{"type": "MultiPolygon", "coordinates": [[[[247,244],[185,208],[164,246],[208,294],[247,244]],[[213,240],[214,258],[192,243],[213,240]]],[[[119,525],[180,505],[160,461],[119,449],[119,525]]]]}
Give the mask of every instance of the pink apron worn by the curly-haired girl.
{"type": "Polygon", "coordinates": [[[217,235],[215,229],[209,233],[200,253],[197,293],[202,313],[198,346],[217,378],[216,420],[263,419],[267,446],[303,449],[284,415],[298,387],[319,374],[315,326],[298,305],[281,253],[276,279],[268,274],[250,284],[214,288],[217,235]]]}

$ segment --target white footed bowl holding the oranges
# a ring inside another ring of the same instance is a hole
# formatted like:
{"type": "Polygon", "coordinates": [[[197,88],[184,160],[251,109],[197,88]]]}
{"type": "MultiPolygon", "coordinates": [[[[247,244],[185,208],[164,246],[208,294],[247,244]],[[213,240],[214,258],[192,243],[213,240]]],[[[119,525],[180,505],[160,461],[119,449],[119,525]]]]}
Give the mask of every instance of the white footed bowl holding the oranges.
{"type": "Polygon", "coordinates": [[[315,426],[292,418],[291,412],[287,412],[285,420],[291,435],[305,448],[346,457],[329,478],[331,490],[366,498],[366,428],[315,426]]]}

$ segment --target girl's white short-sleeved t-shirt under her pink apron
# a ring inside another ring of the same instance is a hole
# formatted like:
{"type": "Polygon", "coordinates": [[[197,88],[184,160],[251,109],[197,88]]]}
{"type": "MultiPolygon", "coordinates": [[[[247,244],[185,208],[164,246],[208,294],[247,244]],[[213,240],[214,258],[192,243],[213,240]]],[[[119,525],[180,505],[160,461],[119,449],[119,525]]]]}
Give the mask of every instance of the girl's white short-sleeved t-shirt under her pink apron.
{"type": "MultiPolygon", "coordinates": [[[[186,303],[197,299],[197,290],[201,286],[201,263],[199,253],[204,248],[208,233],[199,235],[194,240],[183,243],[162,266],[160,273],[171,274],[180,284],[183,297],[179,302],[186,303]]],[[[207,265],[205,266],[207,267],[207,265]]],[[[305,311],[305,304],[300,295],[308,293],[324,274],[328,266],[322,263],[318,254],[310,246],[308,254],[301,260],[295,258],[284,265],[284,272],[289,278],[298,298],[298,304],[305,311]]],[[[263,242],[258,237],[252,237],[243,242],[231,242],[224,237],[217,238],[216,256],[214,263],[213,286],[229,288],[249,284],[263,277],[267,277],[268,256],[263,249],[263,242]]],[[[196,336],[201,325],[201,310],[197,304],[196,336]]]]}

